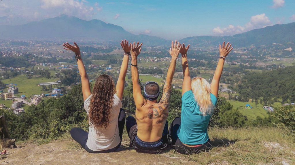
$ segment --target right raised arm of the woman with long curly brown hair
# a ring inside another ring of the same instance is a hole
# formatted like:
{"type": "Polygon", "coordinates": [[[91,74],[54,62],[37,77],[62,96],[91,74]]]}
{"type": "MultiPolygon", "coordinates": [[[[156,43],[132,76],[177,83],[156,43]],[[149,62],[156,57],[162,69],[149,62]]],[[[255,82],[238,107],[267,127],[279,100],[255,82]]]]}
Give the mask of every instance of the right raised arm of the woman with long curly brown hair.
{"type": "Polygon", "coordinates": [[[120,98],[120,100],[122,100],[123,92],[124,92],[124,84],[125,84],[125,77],[127,74],[131,43],[130,45],[128,45],[128,41],[122,40],[121,46],[124,50],[124,57],[123,57],[120,74],[119,74],[119,78],[118,78],[117,86],[116,86],[117,96],[120,98]]]}

